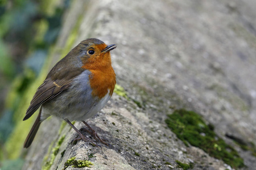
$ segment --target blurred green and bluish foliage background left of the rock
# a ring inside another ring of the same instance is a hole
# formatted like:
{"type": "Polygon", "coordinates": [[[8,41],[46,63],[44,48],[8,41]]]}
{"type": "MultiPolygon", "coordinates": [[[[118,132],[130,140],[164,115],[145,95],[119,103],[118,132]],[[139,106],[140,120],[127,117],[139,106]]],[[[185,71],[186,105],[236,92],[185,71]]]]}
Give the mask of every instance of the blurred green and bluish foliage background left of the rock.
{"type": "Polygon", "coordinates": [[[26,154],[22,143],[34,121],[20,121],[29,104],[26,99],[31,99],[47,74],[41,70],[47,70],[42,68],[51,59],[48,54],[70,3],[69,0],[0,1],[1,170],[22,167],[26,154]],[[27,128],[15,128],[24,124],[27,128]]]}

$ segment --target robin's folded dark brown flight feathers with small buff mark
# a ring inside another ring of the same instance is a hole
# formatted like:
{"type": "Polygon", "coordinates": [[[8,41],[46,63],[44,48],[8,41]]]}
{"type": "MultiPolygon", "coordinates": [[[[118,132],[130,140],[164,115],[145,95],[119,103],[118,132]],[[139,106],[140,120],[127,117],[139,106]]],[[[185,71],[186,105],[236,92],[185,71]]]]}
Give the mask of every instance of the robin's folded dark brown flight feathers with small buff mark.
{"type": "Polygon", "coordinates": [[[33,99],[30,102],[30,107],[28,107],[26,116],[23,118],[27,120],[34,114],[34,112],[48,100],[51,100],[53,97],[59,95],[62,91],[67,90],[70,87],[71,80],[67,82],[67,80],[51,80],[47,78],[44,80],[43,84],[39,86],[36,91],[33,99]]]}

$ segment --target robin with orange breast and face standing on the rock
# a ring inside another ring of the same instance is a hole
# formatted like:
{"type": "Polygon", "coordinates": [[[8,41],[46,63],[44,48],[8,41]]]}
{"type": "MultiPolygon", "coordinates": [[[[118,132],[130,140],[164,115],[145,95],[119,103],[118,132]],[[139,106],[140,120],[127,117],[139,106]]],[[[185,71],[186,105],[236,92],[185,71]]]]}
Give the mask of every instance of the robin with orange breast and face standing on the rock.
{"type": "Polygon", "coordinates": [[[26,141],[24,148],[28,148],[40,124],[49,116],[63,118],[79,134],[78,139],[97,145],[101,141],[85,120],[94,116],[108,102],[115,87],[115,73],[111,65],[110,51],[117,45],[106,45],[98,39],[81,41],[67,56],[61,59],[49,71],[46,80],[39,86],[28,107],[27,120],[40,107],[38,117],[26,141]],[[82,121],[96,139],[96,143],[82,135],[71,121],[82,121]]]}

